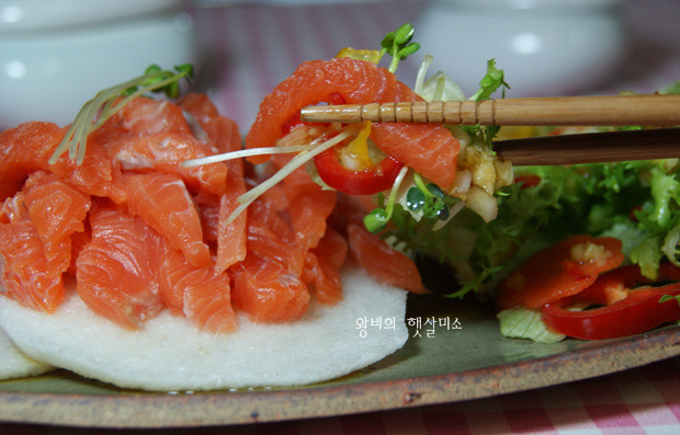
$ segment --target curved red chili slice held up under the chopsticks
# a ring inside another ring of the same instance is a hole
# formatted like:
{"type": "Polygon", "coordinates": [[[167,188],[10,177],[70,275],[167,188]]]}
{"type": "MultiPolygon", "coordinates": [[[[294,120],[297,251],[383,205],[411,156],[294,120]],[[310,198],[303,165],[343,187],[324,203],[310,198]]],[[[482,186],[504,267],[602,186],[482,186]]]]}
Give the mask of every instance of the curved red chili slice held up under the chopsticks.
{"type": "Polygon", "coordinates": [[[347,169],[335,149],[314,158],[319,176],[329,186],[350,195],[373,195],[392,187],[404,163],[386,156],[373,168],[363,171],[347,169]]]}

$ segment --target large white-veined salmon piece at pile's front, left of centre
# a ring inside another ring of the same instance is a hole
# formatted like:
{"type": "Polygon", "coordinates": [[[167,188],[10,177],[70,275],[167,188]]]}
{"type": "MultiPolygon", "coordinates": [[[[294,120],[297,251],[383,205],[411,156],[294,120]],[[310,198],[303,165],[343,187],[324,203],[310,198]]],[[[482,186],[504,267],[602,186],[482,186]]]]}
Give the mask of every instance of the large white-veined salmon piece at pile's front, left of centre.
{"type": "Polygon", "coordinates": [[[97,203],[90,211],[92,240],[76,262],[76,289],[99,314],[127,329],[138,329],[163,304],[156,271],[160,236],[121,206],[97,203]]]}

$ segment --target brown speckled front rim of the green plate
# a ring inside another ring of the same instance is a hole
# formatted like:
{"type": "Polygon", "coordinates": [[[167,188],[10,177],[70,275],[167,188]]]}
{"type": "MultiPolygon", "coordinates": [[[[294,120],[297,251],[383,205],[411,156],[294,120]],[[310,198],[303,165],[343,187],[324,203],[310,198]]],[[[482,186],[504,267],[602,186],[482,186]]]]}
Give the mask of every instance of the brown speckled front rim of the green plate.
{"type": "Polygon", "coordinates": [[[121,394],[60,394],[0,390],[0,421],[100,428],[199,427],[453,403],[583,380],[678,356],[680,325],[592,343],[582,348],[507,364],[344,385],[328,382],[287,389],[181,394],[125,391],[121,394]],[[621,358],[622,352],[632,357],[621,358]],[[587,363],[594,358],[600,364],[589,368],[587,363]],[[601,364],[603,358],[607,364],[601,364]],[[565,365],[565,362],[576,364],[565,365]],[[518,378],[523,380],[520,387],[518,378]],[[508,379],[513,381],[508,382],[508,379]],[[465,381],[471,380],[474,388],[468,389],[465,381]]]}

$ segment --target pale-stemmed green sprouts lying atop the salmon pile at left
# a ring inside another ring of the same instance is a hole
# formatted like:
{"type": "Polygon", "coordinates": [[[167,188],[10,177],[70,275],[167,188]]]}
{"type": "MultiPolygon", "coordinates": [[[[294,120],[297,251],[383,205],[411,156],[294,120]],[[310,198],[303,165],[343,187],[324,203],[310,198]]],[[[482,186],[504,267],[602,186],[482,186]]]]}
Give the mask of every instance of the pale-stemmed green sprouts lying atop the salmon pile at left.
{"type": "Polygon", "coordinates": [[[163,92],[168,98],[177,99],[180,95],[180,80],[190,80],[193,76],[194,69],[190,64],[177,66],[174,70],[162,70],[152,65],[147,68],[144,76],[100,91],[78,112],[66,136],[49,159],[49,164],[54,164],[67,150],[71,160],[76,160],[79,165],[82,164],[90,133],[104,125],[129,101],[148,92],[163,92]]]}

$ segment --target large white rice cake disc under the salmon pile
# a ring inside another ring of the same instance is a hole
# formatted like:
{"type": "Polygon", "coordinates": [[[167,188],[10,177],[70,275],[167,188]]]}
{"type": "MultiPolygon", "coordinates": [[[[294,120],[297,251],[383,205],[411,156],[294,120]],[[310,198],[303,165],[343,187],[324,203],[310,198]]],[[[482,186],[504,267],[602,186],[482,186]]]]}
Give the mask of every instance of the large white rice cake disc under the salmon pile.
{"type": "MultiPolygon", "coordinates": [[[[0,323],[33,358],[123,388],[183,391],[281,387],[337,378],[399,350],[408,339],[406,291],[343,270],[343,300],[310,306],[303,319],[258,324],[238,317],[238,332],[197,331],[163,311],[140,331],[124,330],[71,296],[56,313],[0,297],[0,323]],[[381,320],[365,334],[358,319],[381,320]],[[384,328],[395,320],[395,329],[384,328]],[[365,336],[362,336],[365,335],[365,336]]],[[[72,294],[72,291],[70,293],[72,294]]]]}

